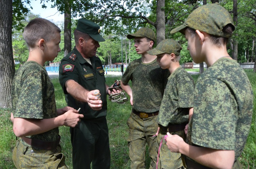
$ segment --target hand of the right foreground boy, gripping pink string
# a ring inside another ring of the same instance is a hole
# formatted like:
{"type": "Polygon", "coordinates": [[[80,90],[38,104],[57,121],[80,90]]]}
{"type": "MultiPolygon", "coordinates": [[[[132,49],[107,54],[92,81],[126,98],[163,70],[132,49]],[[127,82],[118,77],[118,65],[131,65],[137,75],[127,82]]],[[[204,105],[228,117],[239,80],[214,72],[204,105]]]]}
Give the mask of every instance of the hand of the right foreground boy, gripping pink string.
{"type": "Polygon", "coordinates": [[[183,138],[178,135],[172,135],[169,132],[167,132],[167,135],[168,137],[166,137],[166,145],[168,146],[168,149],[172,152],[179,153],[182,143],[185,143],[183,138]]]}

